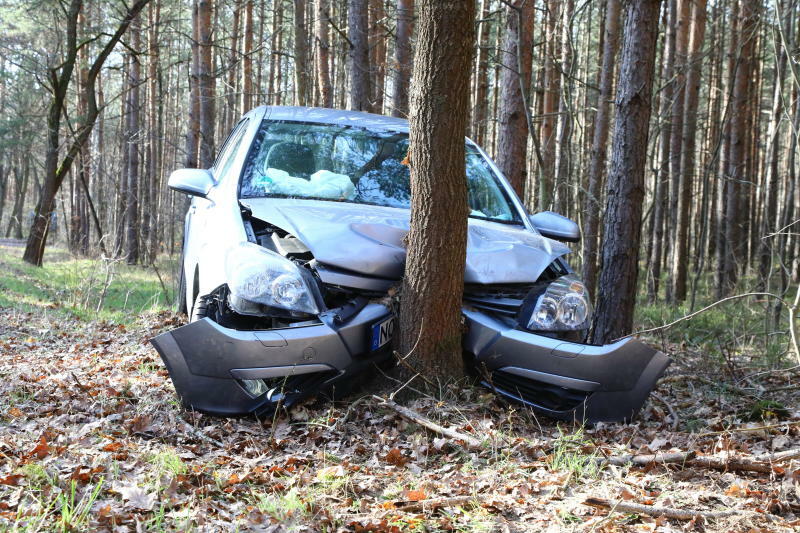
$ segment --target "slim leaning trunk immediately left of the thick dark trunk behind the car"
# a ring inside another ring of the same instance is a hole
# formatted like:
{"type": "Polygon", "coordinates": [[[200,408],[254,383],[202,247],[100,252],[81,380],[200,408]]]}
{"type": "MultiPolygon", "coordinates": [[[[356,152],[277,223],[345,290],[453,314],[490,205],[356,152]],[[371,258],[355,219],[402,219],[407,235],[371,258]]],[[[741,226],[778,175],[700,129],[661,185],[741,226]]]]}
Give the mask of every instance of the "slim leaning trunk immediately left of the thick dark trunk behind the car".
{"type": "Polygon", "coordinates": [[[611,122],[611,101],[614,93],[614,63],[619,45],[620,0],[606,3],[603,64],[600,69],[600,96],[594,122],[592,159],[589,163],[589,187],[586,193],[583,226],[583,282],[590,295],[597,287],[597,244],[600,215],[600,191],[606,172],[608,129],[611,122]]]}

